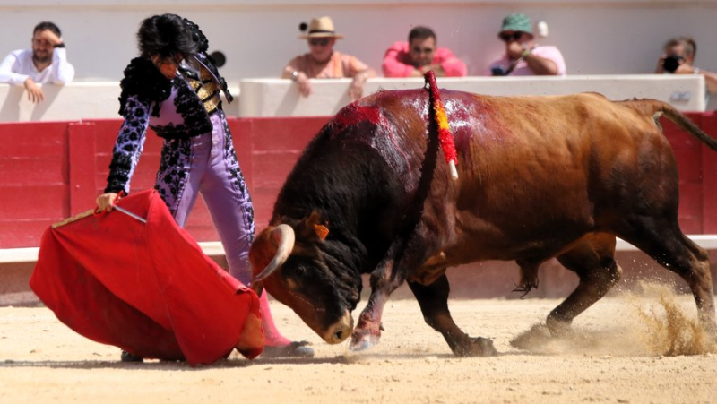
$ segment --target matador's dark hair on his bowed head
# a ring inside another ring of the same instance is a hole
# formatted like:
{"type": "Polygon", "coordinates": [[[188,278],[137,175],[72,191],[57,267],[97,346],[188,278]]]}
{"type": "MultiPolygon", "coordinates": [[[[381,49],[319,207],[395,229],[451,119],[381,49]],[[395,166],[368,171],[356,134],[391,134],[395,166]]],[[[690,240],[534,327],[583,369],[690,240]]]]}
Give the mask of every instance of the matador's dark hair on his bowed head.
{"type": "Polygon", "coordinates": [[[137,32],[137,46],[143,57],[160,59],[196,54],[200,44],[186,20],[177,14],[153,15],[144,19],[137,32]]]}

